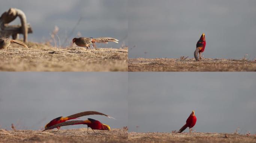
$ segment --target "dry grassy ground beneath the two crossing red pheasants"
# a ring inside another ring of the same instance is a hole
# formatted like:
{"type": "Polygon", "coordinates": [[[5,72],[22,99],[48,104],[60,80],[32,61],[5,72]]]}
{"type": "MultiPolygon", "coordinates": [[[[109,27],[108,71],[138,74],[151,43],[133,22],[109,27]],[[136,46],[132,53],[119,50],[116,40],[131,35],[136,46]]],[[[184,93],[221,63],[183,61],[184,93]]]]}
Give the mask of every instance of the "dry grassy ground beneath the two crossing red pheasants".
{"type": "Polygon", "coordinates": [[[127,142],[128,130],[112,129],[111,131],[87,128],[60,131],[6,131],[0,129],[0,143],[124,143],[127,142]]]}

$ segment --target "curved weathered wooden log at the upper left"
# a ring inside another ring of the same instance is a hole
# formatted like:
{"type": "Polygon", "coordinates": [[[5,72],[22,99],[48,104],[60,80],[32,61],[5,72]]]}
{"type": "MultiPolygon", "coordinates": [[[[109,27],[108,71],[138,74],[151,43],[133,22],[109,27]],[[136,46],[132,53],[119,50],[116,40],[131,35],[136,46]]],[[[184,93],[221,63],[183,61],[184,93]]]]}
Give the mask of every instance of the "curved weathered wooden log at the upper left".
{"type": "Polygon", "coordinates": [[[0,35],[10,36],[13,39],[17,38],[18,34],[24,35],[24,42],[27,42],[28,33],[32,33],[32,28],[27,24],[27,19],[25,13],[19,9],[10,8],[8,11],[4,12],[0,17],[0,35]],[[21,19],[21,25],[8,25],[10,22],[15,20],[17,17],[21,19]]]}

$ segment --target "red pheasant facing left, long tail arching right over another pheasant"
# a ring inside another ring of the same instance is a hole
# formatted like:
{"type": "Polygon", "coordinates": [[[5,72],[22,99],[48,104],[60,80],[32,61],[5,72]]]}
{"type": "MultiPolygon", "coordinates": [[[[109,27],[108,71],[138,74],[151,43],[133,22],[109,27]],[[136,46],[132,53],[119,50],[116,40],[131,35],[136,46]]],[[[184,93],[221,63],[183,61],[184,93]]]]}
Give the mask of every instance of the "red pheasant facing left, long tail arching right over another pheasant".
{"type": "MultiPolygon", "coordinates": [[[[77,113],[77,114],[74,114],[74,115],[70,115],[68,117],[58,117],[58,118],[55,118],[53,119],[52,121],[50,121],[48,124],[45,125],[45,129],[46,128],[49,128],[53,125],[56,125],[56,124],[59,124],[59,123],[63,123],[67,120],[72,120],[72,119],[76,119],[76,118],[79,118],[79,117],[82,117],[82,116],[86,116],[86,115],[104,115],[104,116],[107,116],[109,118],[113,118],[113,117],[110,117],[109,115],[106,115],[106,114],[103,114],[103,113],[100,113],[100,112],[96,112],[96,111],[85,111],[85,112],[80,112],[80,113],[77,113]]],[[[115,119],[115,118],[113,118],[115,119]]],[[[60,129],[60,126],[57,126],[55,128],[58,128],[60,129]]]]}

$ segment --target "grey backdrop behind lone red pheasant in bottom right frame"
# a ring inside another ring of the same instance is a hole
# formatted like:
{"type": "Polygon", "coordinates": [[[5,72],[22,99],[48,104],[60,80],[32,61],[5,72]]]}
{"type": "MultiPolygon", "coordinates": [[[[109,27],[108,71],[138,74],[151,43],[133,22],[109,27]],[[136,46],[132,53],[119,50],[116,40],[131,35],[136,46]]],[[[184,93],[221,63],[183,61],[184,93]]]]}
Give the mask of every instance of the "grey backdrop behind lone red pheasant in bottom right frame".
{"type": "Polygon", "coordinates": [[[195,110],[196,132],[255,134],[255,85],[255,73],[129,73],[129,131],[178,131],[195,110]]]}

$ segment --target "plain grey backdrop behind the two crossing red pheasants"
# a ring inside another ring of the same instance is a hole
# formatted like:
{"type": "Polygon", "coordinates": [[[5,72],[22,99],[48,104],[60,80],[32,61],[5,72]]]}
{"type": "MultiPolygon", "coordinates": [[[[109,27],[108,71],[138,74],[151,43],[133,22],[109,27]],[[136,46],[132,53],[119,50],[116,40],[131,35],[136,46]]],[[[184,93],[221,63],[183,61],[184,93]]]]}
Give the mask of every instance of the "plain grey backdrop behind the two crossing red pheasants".
{"type": "MultiPolygon", "coordinates": [[[[0,128],[41,130],[54,118],[98,111],[93,118],[111,128],[128,125],[128,73],[11,73],[0,74],[0,128]]],[[[87,128],[86,125],[61,127],[87,128]]]]}

